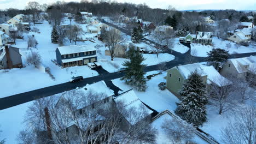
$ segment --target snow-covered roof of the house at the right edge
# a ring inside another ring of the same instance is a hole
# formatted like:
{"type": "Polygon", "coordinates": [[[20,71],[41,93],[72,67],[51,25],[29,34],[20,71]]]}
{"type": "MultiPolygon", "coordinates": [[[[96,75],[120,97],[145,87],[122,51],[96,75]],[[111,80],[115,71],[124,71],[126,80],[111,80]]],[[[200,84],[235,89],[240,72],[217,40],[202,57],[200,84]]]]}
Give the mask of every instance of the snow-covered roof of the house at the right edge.
{"type": "MultiPolygon", "coordinates": [[[[256,64],[256,56],[229,59],[238,73],[245,73],[256,64]]],[[[256,69],[256,67],[254,68],[256,69]]]]}

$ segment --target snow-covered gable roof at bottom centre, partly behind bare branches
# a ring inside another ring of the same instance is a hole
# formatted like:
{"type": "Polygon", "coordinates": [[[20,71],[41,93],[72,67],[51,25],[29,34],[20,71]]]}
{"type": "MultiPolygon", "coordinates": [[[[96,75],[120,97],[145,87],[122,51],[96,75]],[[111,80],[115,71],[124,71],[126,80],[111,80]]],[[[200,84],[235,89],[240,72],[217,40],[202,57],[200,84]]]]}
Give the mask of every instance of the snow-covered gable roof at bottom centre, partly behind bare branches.
{"type": "MultiPolygon", "coordinates": [[[[127,111],[134,111],[134,110],[146,110],[146,115],[142,117],[142,119],[148,116],[150,113],[153,113],[152,110],[149,110],[147,106],[145,106],[141,100],[137,97],[133,89],[126,91],[117,97],[114,98],[115,102],[122,101],[124,103],[124,108],[127,111]]],[[[141,121],[142,119],[138,119],[133,117],[132,115],[124,115],[125,119],[131,124],[134,125],[137,122],[141,121]]]]}

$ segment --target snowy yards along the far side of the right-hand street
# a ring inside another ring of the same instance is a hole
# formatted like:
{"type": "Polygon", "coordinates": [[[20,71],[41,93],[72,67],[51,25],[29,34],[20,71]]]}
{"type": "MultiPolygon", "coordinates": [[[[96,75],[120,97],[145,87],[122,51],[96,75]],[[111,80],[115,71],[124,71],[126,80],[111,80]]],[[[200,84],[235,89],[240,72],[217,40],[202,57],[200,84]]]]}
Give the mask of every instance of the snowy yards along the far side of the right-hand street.
{"type": "MultiPolygon", "coordinates": [[[[229,51],[230,54],[235,53],[248,53],[248,52],[256,52],[256,46],[249,45],[246,46],[240,46],[238,49],[235,47],[235,43],[232,43],[231,41],[227,40],[220,40],[217,37],[213,37],[213,45],[216,48],[224,49],[229,51]],[[231,48],[227,49],[226,44],[230,43],[231,48]]],[[[210,45],[202,45],[202,44],[190,44],[191,45],[191,55],[197,56],[197,57],[207,57],[207,52],[210,52],[213,49],[213,46],[210,45]]]]}

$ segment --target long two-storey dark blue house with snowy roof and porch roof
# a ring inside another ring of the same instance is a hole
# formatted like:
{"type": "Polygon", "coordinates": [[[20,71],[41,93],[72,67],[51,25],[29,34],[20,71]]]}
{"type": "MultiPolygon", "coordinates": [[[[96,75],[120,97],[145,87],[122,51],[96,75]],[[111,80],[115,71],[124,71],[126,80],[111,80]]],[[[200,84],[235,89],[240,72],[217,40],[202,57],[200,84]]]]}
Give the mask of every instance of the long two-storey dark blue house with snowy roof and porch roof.
{"type": "Polygon", "coordinates": [[[97,60],[95,44],[59,46],[56,49],[57,63],[61,67],[86,65],[97,60]]]}

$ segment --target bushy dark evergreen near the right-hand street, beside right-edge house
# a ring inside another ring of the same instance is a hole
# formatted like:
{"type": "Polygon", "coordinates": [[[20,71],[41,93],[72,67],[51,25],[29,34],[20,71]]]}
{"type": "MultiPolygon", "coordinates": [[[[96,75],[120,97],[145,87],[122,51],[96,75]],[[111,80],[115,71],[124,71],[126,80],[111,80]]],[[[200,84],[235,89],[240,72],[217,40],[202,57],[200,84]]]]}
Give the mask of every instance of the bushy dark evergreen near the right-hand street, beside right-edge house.
{"type": "Polygon", "coordinates": [[[207,55],[207,64],[212,65],[218,71],[220,71],[223,63],[228,61],[229,58],[229,52],[219,48],[212,49],[210,52],[207,52],[207,55]]]}

